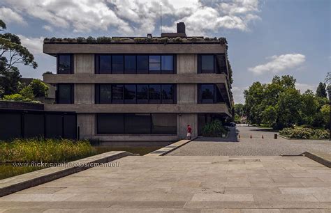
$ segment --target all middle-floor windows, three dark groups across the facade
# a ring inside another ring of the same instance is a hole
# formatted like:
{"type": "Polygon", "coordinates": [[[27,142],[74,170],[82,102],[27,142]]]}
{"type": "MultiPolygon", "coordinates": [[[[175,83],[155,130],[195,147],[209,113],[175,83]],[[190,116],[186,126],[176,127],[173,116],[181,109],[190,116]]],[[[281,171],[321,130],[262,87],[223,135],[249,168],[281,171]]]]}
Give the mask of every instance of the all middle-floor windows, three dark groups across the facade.
{"type": "MultiPolygon", "coordinates": [[[[57,84],[57,104],[73,104],[73,84],[57,84]]],[[[96,104],[176,104],[175,84],[96,84],[96,104]]],[[[198,103],[225,102],[215,84],[198,84],[198,103]]]]}

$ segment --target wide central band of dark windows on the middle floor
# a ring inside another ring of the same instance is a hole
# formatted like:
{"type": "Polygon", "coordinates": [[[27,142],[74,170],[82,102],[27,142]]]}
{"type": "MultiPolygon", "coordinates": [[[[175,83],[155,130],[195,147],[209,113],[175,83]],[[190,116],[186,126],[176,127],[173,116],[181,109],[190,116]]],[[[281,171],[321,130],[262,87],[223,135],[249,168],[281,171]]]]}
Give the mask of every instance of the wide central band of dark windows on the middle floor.
{"type": "Polygon", "coordinates": [[[175,104],[175,84],[96,84],[96,104],[175,104]]]}

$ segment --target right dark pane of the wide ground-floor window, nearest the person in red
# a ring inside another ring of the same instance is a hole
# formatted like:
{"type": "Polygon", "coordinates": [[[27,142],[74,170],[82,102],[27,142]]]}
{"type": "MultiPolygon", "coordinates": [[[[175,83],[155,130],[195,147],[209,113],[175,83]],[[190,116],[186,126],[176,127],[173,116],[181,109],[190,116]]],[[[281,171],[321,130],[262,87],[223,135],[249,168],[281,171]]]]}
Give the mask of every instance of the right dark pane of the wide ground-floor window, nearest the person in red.
{"type": "Polygon", "coordinates": [[[177,134],[177,114],[152,113],[152,134],[177,134]]]}

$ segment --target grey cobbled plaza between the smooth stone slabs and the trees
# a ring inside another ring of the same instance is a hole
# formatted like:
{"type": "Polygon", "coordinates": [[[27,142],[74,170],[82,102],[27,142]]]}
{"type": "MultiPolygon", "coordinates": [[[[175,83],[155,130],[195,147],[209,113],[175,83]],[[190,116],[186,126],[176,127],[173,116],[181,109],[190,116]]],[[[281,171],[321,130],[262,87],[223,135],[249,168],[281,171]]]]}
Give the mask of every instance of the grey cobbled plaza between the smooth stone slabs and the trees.
{"type": "Polygon", "coordinates": [[[237,127],[237,133],[240,135],[239,141],[236,140],[233,129],[228,139],[198,138],[168,155],[277,156],[300,155],[309,151],[331,154],[331,141],[328,140],[287,140],[280,136],[274,139],[275,132],[267,132],[258,127],[237,127]]]}

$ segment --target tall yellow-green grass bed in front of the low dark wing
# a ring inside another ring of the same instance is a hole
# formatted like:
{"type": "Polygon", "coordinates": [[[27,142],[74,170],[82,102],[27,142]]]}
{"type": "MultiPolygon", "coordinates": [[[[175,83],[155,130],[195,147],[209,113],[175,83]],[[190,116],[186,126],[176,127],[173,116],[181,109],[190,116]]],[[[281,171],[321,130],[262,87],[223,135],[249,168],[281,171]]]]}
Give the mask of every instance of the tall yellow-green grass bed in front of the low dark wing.
{"type": "Polygon", "coordinates": [[[68,139],[15,139],[1,141],[0,162],[65,162],[94,155],[89,141],[68,139]]]}

